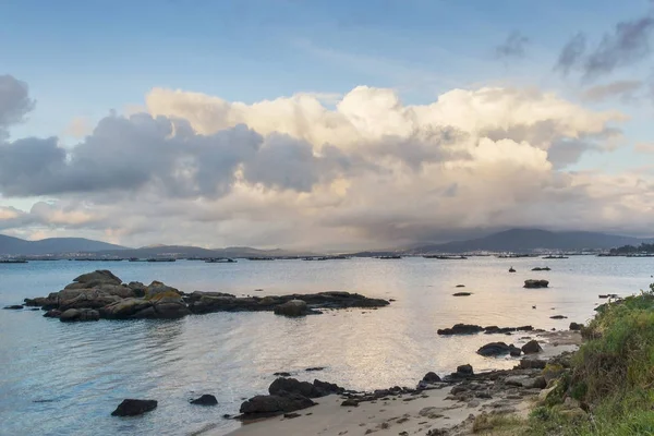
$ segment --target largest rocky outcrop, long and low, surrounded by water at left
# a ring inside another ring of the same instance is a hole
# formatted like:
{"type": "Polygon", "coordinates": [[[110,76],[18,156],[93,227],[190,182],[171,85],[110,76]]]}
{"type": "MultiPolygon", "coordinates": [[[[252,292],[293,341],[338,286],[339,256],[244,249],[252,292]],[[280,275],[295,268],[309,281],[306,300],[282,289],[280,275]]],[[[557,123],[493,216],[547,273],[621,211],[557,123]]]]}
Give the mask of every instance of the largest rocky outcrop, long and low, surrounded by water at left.
{"type": "Polygon", "coordinates": [[[57,317],[62,322],[181,318],[190,314],[242,311],[270,311],[284,316],[305,316],[319,314],[317,308],[376,308],[388,304],[386,300],[368,299],[350,292],[263,298],[238,298],[229,293],[201,291],[186,294],[160,281],[153,281],[148,286],[135,281],[123,283],[109,270],[84,274],[63,290],[48,296],[25,299],[26,306],[41,307],[48,311],[45,316],[57,317]]]}

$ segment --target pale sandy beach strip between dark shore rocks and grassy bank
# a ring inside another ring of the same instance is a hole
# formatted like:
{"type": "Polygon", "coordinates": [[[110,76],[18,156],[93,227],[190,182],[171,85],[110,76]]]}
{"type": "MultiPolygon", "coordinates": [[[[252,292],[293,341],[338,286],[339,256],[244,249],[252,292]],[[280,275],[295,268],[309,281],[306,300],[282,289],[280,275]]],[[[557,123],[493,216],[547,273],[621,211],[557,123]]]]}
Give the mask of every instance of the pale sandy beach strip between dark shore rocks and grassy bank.
{"type": "MultiPolygon", "coordinates": [[[[550,362],[576,351],[582,341],[581,334],[574,330],[543,331],[534,337],[543,351],[528,354],[523,361],[550,362]]],[[[243,422],[240,428],[227,434],[207,429],[198,435],[467,435],[472,433],[475,417],[484,413],[526,417],[545,385],[542,385],[543,380],[536,380],[541,377],[542,366],[519,366],[439,382],[412,392],[359,401],[355,407],[341,405],[351,396],[329,395],[314,399],[316,405],[294,413],[243,422]]]]}

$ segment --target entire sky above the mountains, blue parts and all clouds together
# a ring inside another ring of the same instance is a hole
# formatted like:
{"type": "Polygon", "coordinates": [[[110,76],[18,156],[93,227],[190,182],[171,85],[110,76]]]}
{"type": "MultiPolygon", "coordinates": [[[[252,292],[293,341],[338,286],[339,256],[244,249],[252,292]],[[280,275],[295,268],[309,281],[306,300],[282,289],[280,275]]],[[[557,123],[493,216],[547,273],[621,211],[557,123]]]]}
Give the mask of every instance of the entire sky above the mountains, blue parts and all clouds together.
{"type": "Polygon", "coordinates": [[[0,0],[0,233],[652,237],[654,2],[0,0]]]}

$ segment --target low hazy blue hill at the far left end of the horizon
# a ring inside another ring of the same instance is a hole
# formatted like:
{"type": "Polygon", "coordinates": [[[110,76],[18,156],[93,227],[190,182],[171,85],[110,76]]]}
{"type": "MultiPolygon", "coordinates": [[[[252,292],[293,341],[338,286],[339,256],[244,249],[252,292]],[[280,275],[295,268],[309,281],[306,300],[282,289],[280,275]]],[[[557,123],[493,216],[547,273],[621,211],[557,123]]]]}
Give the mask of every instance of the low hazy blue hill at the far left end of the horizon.
{"type": "Polygon", "coordinates": [[[124,250],[124,246],[84,238],[48,238],[40,241],[0,234],[0,255],[36,256],[56,253],[89,253],[101,250],[124,250]]]}

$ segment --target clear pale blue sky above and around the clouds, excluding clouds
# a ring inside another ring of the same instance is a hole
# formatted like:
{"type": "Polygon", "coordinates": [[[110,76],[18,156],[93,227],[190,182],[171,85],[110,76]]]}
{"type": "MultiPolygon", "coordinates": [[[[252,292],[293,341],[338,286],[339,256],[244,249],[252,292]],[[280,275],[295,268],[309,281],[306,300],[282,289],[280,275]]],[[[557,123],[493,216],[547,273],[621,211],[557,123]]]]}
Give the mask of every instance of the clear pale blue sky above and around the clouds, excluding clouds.
{"type": "MultiPolygon", "coordinates": [[[[11,140],[58,136],[62,147],[81,141],[66,133],[73,120],[92,129],[112,111],[143,107],[153,88],[254,104],[366,85],[395,89],[404,105],[455,88],[535,88],[630,118],[619,125],[618,148],[586,150],[566,167],[618,174],[654,156],[632,149],[654,143],[651,58],[593,80],[554,65],[574,35],[585,34],[592,51],[618,23],[652,16],[652,8],[649,0],[0,0],[0,75],[24,81],[36,100],[9,129],[11,140]],[[498,59],[514,33],[526,38],[524,56],[498,59]],[[642,82],[638,98],[584,100],[589,89],[620,81],[642,82]]],[[[22,210],[65,198],[4,194],[0,206],[22,210]]]]}

